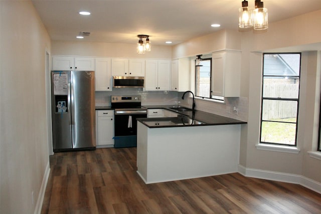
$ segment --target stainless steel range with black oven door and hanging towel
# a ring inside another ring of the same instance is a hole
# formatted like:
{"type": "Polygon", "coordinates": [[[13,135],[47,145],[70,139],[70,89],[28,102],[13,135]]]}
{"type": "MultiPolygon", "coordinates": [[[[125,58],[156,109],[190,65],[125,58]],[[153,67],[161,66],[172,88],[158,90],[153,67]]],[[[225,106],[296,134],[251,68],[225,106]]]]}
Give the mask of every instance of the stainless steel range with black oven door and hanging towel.
{"type": "Polygon", "coordinates": [[[147,117],[147,109],[141,107],[141,96],[111,96],[111,107],[115,109],[114,147],[137,146],[136,118],[147,117]]]}

